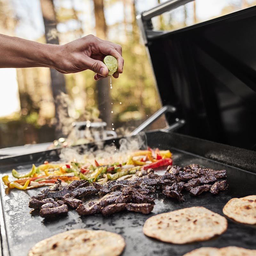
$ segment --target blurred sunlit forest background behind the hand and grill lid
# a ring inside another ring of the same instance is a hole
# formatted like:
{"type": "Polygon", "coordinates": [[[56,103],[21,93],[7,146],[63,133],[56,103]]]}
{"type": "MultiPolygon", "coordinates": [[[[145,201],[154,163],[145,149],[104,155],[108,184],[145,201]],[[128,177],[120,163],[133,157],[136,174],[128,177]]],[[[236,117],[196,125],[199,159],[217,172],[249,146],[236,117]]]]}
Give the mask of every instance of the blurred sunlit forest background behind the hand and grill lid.
{"type": "MultiPolygon", "coordinates": [[[[124,135],[161,108],[136,15],[162,2],[0,0],[2,34],[52,44],[93,34],[121,44],[124,58],[124,73],[112,79],[112,89],[109,77],[94,81],[88,70],[61,74],[49,68],[2,69],[0,148],[68,137],[77,121],[104,121],[108,130],[124,135]]],[[[196,0],[152,21],[155,29],[173,30],[255,4],[255,0],[196,0]]],[[[165,126],[162,117],[148,129],[165,126]]]]}

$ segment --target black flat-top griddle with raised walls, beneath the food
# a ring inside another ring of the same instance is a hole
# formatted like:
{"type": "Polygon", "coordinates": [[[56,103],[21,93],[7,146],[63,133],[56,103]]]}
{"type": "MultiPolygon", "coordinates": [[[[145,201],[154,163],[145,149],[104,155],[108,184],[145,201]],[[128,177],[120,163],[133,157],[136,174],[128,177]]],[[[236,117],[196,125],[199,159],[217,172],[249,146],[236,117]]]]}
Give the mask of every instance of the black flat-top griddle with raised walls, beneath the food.
{"type": "MultiPolygon", "coordinates": [[[[190,206],[204,206],[223,215],[222,208],[229,199],[256,194],[256,152],[174,132],[156,130],[146,132],[143,136],[146,136],[147,145],[152,148],[170,149],[175,165],[185,166],[196,163],[217,170],[226,169],[228,190],[220,192],[218,195],[212,195],[208,192],[196,197],[187,193],[185,194],[185,202],[177,202],[174,199],[158,196],[153,211],[148,215],[136,212],[120,212],[109,217],[103,217],[101,214],[79,216],[75,210],[69,210],[67,216],[47,220],[29,214],[31,210],[28,207],[29,198],[38,194],[42,188],[28,191],[12,189],[7,193],[7,189],[1,182],[0,228],[2,255],[16,256],[18,254],[25,256],[29,248],[40,240],[75,228],[102,229],[122,235],[126,243],[122,254],[124,256],[181,256],[201,246],[223,247],[235,245],[256,249],[254,239],[256,227],[236,223],[230,219],[228,219],[227,231],[208,241],[176,245],[145,236],[142,232],[143,224],[145,220],[155,214],[190,206]]],[[[115,143],[118,148],[119,141],[122,138],[119,137],[115,141],[106,140],[104,143],[105,145],[115,143]]],[[[124,138],[129,139],[129,137],[124,138]]],[[[94,144],[88,144],[87,147],[97,149],[94,144]]],[[[83,152],[85,147],[75,148],[80,150],[81,153],[85,153],[83,152]]],[[[56,161],[59,159],[59,153],[60,149],[53,149],[40,154],[4,157],[0,159],[0,172],[11,175],[12,168],[16,168],[19,172],[28,172],[32,163],[38,165],[42,164],[44,160],[56,161]]]]}

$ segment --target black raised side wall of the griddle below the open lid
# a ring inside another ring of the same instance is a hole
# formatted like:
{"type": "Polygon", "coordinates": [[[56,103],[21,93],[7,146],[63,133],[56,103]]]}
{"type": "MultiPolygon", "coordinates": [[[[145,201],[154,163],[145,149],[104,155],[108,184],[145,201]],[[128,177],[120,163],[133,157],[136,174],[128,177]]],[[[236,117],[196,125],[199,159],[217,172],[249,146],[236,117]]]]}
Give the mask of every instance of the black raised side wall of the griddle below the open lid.
{"type": "Polygon", "coordinates": [[[190,137],[176,132],[166,132],[164,130],[148,132],[147,138],[151,143],[155,141],[155,147],[180,149],[219,163],[256,173],[255,151],[190,137]],[[159,132],[160,134],[158,135],[159,132]],[[157,141],[155,140],[158,140],[158,137],[160,137],[160,143],[157,145],[157,141]]]}

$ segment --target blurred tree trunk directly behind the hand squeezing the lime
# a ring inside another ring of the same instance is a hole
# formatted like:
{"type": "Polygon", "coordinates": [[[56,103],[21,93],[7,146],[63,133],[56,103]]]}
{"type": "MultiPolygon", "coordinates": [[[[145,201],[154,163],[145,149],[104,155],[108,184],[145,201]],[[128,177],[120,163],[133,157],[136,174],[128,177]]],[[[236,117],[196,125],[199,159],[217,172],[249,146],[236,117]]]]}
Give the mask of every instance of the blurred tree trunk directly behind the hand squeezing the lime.
{"type": "MultiPolygon", "coordinates": [[[[95,13],[95,30],[96,36],[101,39],[106,39],[107,25],[104,15],[103,0],[93,0],[95,13]]],[[[115,88],[115,84],[113,85],[115,88]]],[[[108,78],[103,78],[96,81],[96,90],[98,92],[98,108],[100,118],[107,123],[108,128],[112,127],[111,108],[110,108],[110,83],[108,78]]],[[[115,89],[114,89],[115,90],[115,89]]]]}

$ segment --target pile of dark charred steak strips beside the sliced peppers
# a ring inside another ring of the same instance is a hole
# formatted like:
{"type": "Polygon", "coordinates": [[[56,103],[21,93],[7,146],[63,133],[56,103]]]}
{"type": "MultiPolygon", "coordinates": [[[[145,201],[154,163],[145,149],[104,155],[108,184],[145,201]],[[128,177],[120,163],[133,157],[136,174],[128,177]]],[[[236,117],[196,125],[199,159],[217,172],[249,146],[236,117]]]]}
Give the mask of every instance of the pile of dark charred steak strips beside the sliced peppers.
{"type": "Polygon", "coordinates": [[[190,164],[184,168],[168,166],[163,175],[154,173],[152,169],[139,171],[132,180],[112,180],[103,185],[86,180],[62,184],[58,180],[41,194],[32,196],[29,207],[40,209],[42,217],[67,213],[68,206],[76,209],[79,215],[101,213],[107,216],[120,211],[148,214],[153,210],[154,199],[160,194],[178,201],[185,200],[186,190],[191,196],[209,190],[212,194],[217,194],[228,188],[226,180],[218,180],[226,177],[226,170],[190,164]],[[95,200],[90,199],[88,202],[91,195],[95,200]]]}

